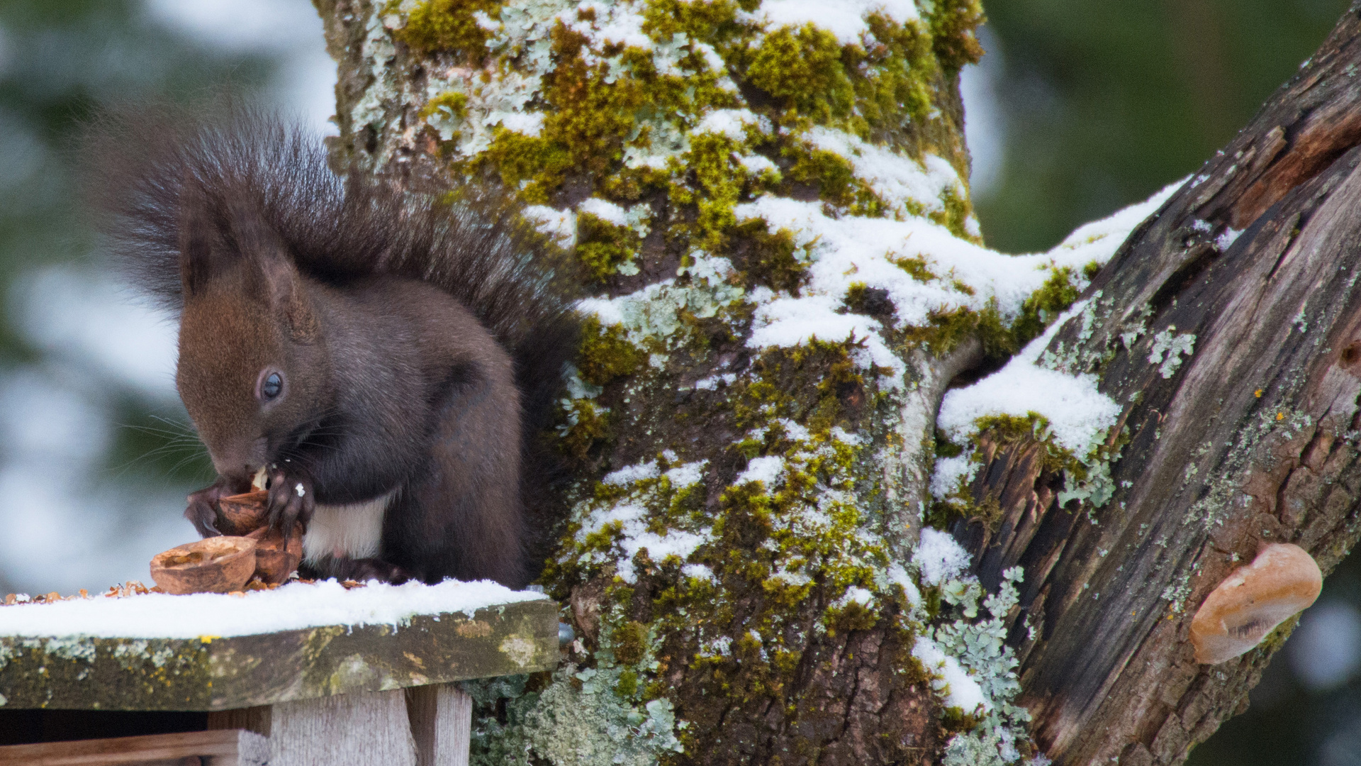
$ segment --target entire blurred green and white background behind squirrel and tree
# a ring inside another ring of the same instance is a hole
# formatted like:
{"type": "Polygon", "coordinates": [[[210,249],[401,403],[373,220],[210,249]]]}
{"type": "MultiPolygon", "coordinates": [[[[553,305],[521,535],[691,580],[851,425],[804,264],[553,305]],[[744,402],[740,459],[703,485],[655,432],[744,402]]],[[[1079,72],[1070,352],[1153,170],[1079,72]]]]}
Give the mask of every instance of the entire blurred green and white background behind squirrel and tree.
{"type": "MultiPolygon", "coordinates": [[[[965,76],[973,192],[1006,252],[1052,247],[1194,172],[1323,41],[1341,0],[985,0],[965,76]]],[[[79,120],[230,80],[329,116],[308,0],[0,0],[0,593],[99,589],[192,538],[211,478],[171,384],[173,327],[79,221],[79,120]]],[[[1361,562],[1331,577],[1195,766],[1361,766],[1361,562]]]]}

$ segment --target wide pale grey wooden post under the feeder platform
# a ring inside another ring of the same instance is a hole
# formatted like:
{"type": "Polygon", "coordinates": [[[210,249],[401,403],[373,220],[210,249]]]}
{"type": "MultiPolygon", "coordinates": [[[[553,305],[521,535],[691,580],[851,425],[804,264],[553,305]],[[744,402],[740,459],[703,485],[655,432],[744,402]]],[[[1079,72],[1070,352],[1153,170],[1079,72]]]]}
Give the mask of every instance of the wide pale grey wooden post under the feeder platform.
{"type": "Polygon", "coordinates": [[[269,766],[416,766],[401,690],[271,707],[269,766]]]}

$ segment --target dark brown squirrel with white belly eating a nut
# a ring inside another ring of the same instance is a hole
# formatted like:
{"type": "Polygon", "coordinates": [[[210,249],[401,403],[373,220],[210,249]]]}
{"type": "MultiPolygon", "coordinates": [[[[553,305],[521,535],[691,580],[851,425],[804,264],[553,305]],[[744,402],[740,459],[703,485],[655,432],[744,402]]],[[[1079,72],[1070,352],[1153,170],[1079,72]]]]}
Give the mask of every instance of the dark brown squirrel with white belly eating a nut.
{"type": "Polygon", "coordinates": [[[180,319],[176,386],[219,474],[189,495],[200,534],[264,468],[305,575],[528,582],[525,500],[554,474],[535,436],[576,326],[513,210],[340,180],[240,105],[105,114],[86,153],[98,228],[180,319]]]}

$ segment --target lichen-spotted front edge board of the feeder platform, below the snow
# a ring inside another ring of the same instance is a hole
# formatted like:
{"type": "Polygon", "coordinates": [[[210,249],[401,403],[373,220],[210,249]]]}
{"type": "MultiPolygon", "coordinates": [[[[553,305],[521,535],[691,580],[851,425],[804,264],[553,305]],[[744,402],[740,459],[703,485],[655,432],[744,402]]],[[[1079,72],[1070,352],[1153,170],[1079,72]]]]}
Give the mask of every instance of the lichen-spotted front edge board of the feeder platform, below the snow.
{"type": "Polygon", "coordinates": [[[523,601],[422,615],[404,626],[332,626],[203,639],[0,638],[10,707],[230,710],[335,694],[550,669],[558,607],[523,601]]]}

